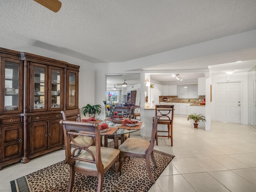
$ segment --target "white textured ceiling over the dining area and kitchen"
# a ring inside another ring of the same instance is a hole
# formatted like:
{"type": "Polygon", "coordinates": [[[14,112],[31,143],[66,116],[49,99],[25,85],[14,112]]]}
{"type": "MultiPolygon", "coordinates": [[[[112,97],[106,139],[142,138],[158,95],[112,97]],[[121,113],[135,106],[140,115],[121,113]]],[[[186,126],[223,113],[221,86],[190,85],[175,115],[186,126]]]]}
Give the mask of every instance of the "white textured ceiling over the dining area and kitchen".
{"type": "MultiPolygon", "coordinates": [[[[1,0],[0,36],[98,63],[124,62],[256,29],[256,0],[60,2],[55,13],[34,0],[1,0]]],[[[253,60],[246,63],[250,68],[255,66],[256,50],[248,51],[139,70],[208,69],[238,56],[253,60]]],[[[164,76],[156,80],[165,81],[164,76]]]]}

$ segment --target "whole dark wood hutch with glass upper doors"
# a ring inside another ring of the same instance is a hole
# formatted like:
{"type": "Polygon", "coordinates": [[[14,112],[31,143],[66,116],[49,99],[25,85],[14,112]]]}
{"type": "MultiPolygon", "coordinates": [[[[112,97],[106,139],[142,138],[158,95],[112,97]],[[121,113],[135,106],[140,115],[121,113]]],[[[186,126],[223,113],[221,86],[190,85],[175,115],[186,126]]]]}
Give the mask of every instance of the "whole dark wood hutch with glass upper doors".
{"type": "Polygon", "coordinates": [[[59,121],[78,108],[79,67],[0,48],[0,170],[64,147],[59,121]]]}

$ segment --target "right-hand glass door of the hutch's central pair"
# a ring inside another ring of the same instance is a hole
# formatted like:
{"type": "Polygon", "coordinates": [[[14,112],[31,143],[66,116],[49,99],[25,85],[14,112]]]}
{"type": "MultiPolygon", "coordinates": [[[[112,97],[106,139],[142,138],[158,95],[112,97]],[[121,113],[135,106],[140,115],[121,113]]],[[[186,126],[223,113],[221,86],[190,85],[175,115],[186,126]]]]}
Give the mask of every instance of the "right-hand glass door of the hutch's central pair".
{"type": "Polygon", "coordinates": [[[49,66],[49,106],[48,110],[64,109],[64,69],[49,66]]]}

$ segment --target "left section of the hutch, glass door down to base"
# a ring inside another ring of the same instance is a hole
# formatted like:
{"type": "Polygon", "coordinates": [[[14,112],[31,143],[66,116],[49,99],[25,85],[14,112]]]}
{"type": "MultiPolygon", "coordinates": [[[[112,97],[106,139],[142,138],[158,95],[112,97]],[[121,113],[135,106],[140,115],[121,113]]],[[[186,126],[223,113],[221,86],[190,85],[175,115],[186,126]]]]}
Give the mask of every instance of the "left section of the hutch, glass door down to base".
{"type": "Polygon", "coordinates": [[[0,170],[22,158],[23,67],[19,52],[0,50],[0,170]]]}

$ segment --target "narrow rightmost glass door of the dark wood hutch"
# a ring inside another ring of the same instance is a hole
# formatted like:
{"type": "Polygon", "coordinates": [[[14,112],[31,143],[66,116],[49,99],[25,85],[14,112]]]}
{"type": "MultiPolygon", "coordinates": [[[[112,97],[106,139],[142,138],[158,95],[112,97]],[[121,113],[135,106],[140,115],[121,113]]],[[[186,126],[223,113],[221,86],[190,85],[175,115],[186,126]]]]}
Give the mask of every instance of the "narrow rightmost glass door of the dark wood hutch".
{"type": "Polygon", "coordinates": [[[78,72],[68,70],[67,74],[66,109],[78,108],[78,72]]]}

